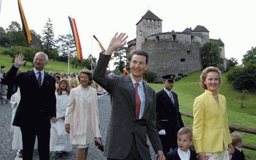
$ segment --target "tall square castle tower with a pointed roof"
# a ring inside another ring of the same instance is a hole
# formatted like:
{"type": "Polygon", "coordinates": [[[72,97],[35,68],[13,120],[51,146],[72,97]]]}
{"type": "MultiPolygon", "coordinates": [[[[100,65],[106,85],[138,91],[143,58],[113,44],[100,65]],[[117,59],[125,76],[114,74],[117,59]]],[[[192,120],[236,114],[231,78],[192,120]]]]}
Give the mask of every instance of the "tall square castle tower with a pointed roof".
{"type": "Polygon", "coordinates": [[[136,50],[141,49],[142,39],[156,33],[162,32],[162,19],[150,10],[143,15],[136,24],[136,50]]]}

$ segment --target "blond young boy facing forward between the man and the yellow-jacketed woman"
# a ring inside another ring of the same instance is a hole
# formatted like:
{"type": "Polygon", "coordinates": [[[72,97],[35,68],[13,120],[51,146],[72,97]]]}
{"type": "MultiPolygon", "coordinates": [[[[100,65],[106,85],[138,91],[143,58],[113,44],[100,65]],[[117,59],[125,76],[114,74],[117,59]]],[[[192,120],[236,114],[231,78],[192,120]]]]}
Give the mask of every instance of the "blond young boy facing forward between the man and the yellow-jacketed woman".
{"type": "Polygon", "coordinates": [[[177,133],[177,144],[174,150],[166,155],[167,160],[196,160],[196,151],[189,149],[192,145],[193,133],[188,127],[182,127],[177,133]]]}

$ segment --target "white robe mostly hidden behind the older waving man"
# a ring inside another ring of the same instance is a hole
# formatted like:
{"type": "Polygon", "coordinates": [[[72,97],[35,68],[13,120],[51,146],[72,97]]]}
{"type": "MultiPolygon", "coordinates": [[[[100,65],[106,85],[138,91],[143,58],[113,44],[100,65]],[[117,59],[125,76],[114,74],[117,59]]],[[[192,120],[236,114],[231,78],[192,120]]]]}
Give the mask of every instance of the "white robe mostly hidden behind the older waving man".
{"type": "MultiPolygon", "coordinates": [[[[18,88],[17,92],[14,95],[12,95],[11,101],[10,101],[12,106],[12,120],[11,120],[11,127],[10,127],[10,131],[13,132],[12,150],[23,149],[22,131],[20,131],[19,127],[12,125],[19,101],[20,101],[20,91],[18,88]]],[[[34,149],[37,149],[37,137],[35,139],[34,149]]]]}

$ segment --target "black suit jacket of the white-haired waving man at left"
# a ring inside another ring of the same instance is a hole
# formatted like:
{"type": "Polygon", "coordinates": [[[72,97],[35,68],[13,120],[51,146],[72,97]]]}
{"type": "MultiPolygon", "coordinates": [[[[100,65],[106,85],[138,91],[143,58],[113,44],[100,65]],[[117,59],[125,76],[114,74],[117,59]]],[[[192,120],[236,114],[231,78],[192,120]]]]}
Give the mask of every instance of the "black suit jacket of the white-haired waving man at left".
{"type": "Polygon", "coordinates": [[[5,80],[13,81],[20,89],[20,102],[13,125],[51,127],[50,118],[56,117],[55,79],[45,73],[39,88],[33,70],[16,75],[18,68],[12,66],[5,80]]]}

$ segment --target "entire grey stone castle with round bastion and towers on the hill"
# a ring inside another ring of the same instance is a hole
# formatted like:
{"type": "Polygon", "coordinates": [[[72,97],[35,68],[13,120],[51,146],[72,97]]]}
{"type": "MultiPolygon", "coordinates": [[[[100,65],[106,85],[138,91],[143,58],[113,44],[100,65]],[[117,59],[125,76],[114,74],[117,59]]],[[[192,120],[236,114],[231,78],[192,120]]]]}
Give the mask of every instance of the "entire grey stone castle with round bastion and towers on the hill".
{"type": "MultiPolygon", "coordinates": [[[[200,48],[207,41],[218,42],[222,58],[225,58],[224,43],[221,39],[210,39],[204,26],[162,33],[162,19],[150,10],[136,26],[136,38],[127,42],[130,54],[134,50],[145,50],[150,55],[148,68],[156,73],[155,82],[162,82],[163,75],[174,74],[177,78],[201,70],[200,48]]],[[[219,68],[226,70],[225,60],[219,68]]]]}

